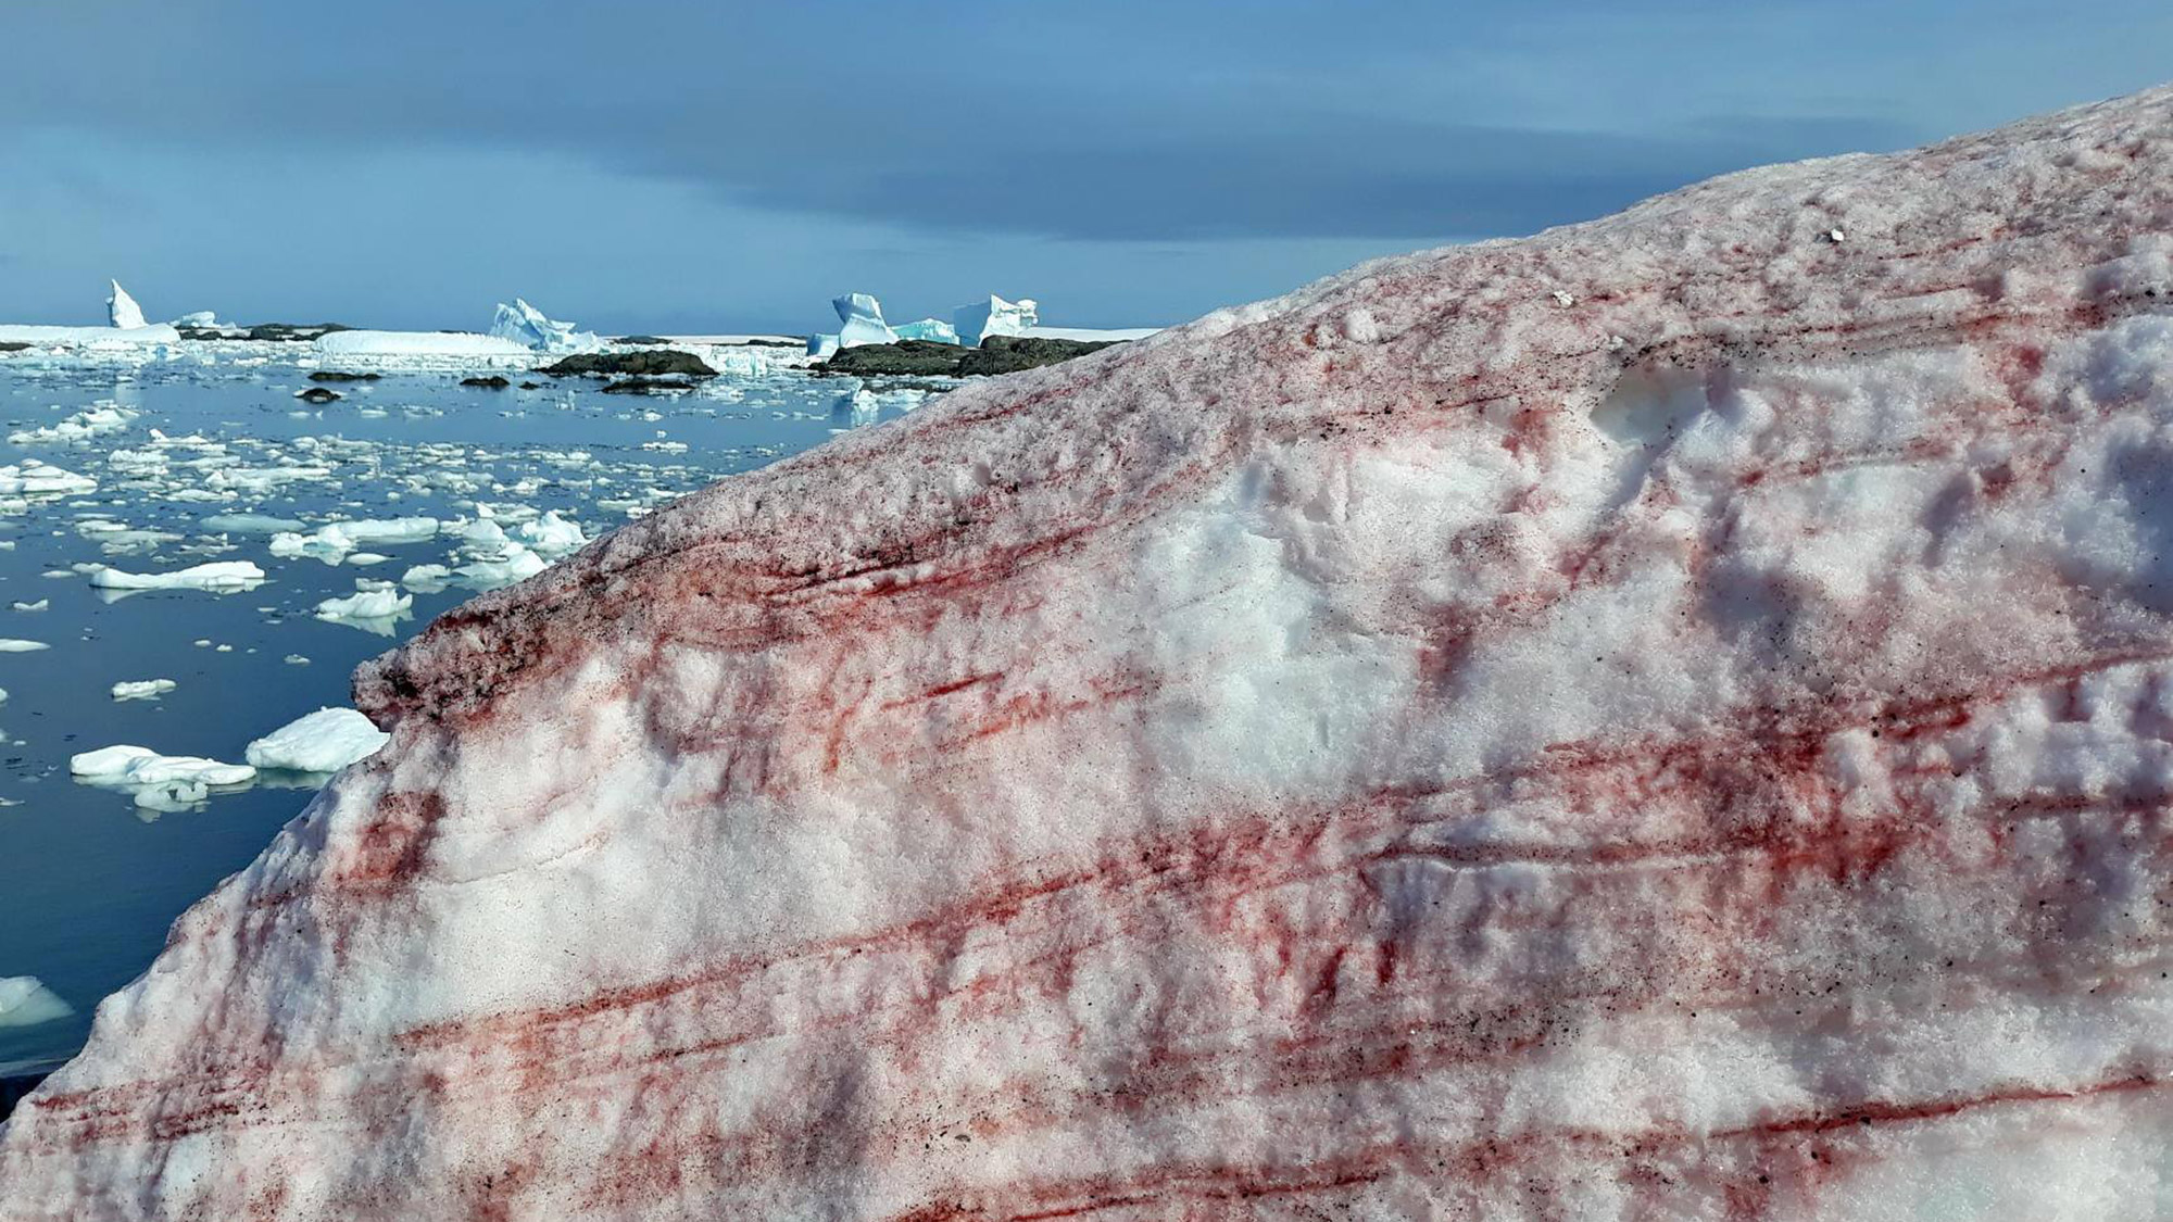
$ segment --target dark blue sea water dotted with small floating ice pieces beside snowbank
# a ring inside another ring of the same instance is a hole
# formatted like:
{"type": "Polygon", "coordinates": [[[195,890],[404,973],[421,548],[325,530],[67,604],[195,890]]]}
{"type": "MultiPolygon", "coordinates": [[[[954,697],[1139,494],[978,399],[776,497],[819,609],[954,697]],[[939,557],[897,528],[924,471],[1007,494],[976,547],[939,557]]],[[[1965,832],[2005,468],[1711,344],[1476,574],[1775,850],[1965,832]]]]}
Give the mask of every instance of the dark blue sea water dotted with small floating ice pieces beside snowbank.
{"type": "Polygon", "coordinates": [[[150,809],[70,778],[70,755],[137,744],[239,763],[250,739],[346,704],[356,663],[474,594],[426,585],[411,589],[406,618],[326,622],[317,602],[354,594],[356,578],[400,583],[411,565],[476,557],[454,531],[369,544],[387,557],[372,565],[278,557],[267,533],[222,533],[206,518],[315,528],[491,511],[517,531],[558,511],[595,537],[717,476],[917,404],[915,394],[854,396],[856,383],[778,370],[684,396],[606,396],[591,381],[491,391],[461,387],[459,374],[387,374],[337,385],[339,402],[311,407],[296,400],[306,372],[291,357],[130,370],[0,359],[7,435],[100,404],[133,413],[89,439],[0,444],[0,465],[35,459],[98,481],[83,496],[0,498],[0,637],[50,646],[0,652],[0,976],[37,976],[74,1011],[28,1026],[0,1018],[0,1074],[80,1048],[98,1000],[143,972],[172,920],[246,865],[322,781],[265,774],[150,809]],[[252,561],[267,581],[113,598],[83,572],[206,561],[252,561]],[[139,678],[178,687],[159,700],[111,698],[113,683],[139,678]]]}

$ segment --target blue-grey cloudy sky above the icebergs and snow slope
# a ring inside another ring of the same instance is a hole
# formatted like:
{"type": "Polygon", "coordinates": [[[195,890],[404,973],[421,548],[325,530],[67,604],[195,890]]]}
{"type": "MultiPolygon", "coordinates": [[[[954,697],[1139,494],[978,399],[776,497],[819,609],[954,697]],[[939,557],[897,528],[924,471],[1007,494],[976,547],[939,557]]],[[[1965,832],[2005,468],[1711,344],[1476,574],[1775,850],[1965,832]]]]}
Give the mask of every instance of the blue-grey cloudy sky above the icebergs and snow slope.
{"type": "Polygon", "coordinates": [[[1145,326],[2173,74],[2164,0],[65,0],[0,17],[0,322],[1145,326]]]}

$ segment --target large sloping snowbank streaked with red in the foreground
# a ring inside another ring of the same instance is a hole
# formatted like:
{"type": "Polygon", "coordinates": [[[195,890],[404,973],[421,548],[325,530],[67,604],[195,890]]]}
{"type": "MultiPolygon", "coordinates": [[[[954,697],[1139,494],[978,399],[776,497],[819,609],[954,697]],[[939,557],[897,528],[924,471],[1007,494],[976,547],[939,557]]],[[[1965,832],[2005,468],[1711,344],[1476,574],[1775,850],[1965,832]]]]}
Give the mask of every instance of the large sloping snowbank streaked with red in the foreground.
{"type": "Polygon", "coordinates": [[[2160,1215],[2164,215],[2173,91],[691,496],[356,674],[0,1222],[2160,1215]]]}

